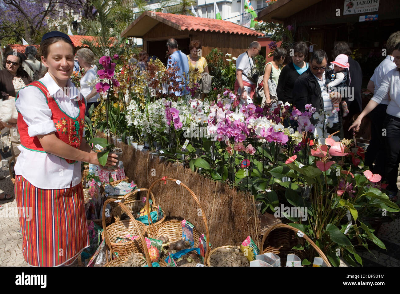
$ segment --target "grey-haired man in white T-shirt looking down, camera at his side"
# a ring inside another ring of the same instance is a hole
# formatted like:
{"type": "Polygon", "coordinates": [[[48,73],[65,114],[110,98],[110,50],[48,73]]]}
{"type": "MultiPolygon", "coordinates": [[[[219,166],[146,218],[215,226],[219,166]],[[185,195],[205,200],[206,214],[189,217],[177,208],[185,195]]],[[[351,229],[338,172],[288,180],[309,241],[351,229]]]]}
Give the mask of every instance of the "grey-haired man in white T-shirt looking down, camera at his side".
{"type": "Polygon", "coordinates": [[[246,96],[253,98],[258,80],[258,75],[256,78],[254,76],[256,65],[253,57],[257,56],[260,51],[260,43],[257,41],[251,42],[247,51],[240,54],[236,60],[235,92],[240,95],[240,104],[246,102],[246,96]]]}

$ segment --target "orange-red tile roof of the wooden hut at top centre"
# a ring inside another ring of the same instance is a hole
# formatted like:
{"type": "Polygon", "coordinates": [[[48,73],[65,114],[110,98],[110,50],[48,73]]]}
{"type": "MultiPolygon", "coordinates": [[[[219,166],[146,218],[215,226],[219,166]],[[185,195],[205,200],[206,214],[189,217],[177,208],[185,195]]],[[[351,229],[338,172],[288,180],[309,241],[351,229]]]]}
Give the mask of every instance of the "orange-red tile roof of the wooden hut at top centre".
{"type": "Polygon", "coordinates": [[[264,34],[257,32],[256,30],[251,30],[250,28],[246,28],[245,26],[235,24],[228,20],[217,20],[162,12],[156,12],[156,15],[180,25],[181,30],[264,36],[264,34]]]}

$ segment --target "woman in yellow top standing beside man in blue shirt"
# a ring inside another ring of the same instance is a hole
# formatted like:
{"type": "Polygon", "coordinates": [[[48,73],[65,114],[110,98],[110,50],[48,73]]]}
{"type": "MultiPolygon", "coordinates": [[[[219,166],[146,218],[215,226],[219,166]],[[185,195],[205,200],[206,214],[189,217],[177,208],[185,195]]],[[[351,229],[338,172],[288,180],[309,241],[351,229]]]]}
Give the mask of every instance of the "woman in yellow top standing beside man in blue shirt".
{"type": "MultiPolygon", "coordinates": [[[[194,87],[194,82],[200,84],[201,74],[203,72],[208,72],[208,64],[206,58],[202,56],[201,43],[199,40],[193,40],[189,44],[190,54],[188,56],[189,60],[189,88],[194,92],[192,93],[193,98],[200,98],[200,89],[194,87]],[[196,70],[197,69],[197,70],[196,70]]],[[[200,85],[199,85],[200,86],[200,85]]],[[[199,87],[198,86],[198,87],[199,87]]],[[[191,91],[191,92],[192,92],[191,91]]]]}

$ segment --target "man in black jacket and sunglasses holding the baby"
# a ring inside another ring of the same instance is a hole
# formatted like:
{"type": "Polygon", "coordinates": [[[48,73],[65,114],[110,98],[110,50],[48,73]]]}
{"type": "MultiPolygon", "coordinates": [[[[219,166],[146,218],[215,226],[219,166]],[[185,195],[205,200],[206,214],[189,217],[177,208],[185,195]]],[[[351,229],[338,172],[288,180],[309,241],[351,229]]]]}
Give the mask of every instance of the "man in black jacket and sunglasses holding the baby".
{"type": "MultiPolygon", "coordinates": [[[[302,73],[293,88],[293,105],[301,112],[305,111],[306,104],[312,104],[320,112],[332,111],[335,102],[340,103],[342,98],[338,92],[328,93],[326,78],[328,77],[328,56],[324,50],[315,50],[310,58],[310,68],[302,73]]],[[[316,120],[312,119],[313,124],[316,120]]],[[[343,138],[342,114],[336,112],[326,119],[327,131],[332,134],[339,131],[336,136],[343,138]]]]}

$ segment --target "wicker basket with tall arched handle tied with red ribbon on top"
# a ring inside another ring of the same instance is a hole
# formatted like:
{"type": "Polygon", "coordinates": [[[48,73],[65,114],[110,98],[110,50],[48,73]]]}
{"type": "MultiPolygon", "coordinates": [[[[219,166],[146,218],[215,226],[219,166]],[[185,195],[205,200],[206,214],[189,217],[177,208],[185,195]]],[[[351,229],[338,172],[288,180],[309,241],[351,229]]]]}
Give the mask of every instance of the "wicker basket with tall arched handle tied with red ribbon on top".
{"type": "MultiPolygon", "coordinates": [[[[155,184],[157,184],[158,182],[161,182],[161,181],[165,181],[165,182],[166,181],[174,181],[174,182],[177,182],[176,179],[166,178],[166,177],[163,177],[161,179],[156,180],[150,186],[150,188],[147,191],[147,196],[146,196],[147,209],[149,207],[148,199],[149,199],[151,190],[152,190],[152,188],[154,187],[155,184]]],[[[184,188],[186,188],[186,190],[189,191],[189,193],[192,195],[192,197],[194,198],[194,200],[197,202],[198,206],[200,207],[200,210],[201,210],[201,213],[202,213],[201,215],[202,215],[204,224],[206,225],[207,243],[209,244],[210,243],[210,234],[208,232],[206,214],[204,213],[204,210],[203,210],[203,208],[202,208],[202,206],[200,204],[200,201],[198,200],[196,194],[194,194],[194,192],[192,190],[190,190],[188,188],[188,186],[186,186],[184,183],[182,183],[180,181],[178,181],[178,183],[179,183],[180,186],[183,186],[184,188]]],[[[150,220],[150,218],[149,218],[149,220],[150,220]]],[[[151,222],[151,220],[150,220],[150,222],[151,222]]],[[[151,224],[149,226],[149,229],[150,229],[150,231],[147,230],[147,233],[149,234],[149,236],[152,236],[152,238],[157,238],[159,236],[164,236],[164,237],[168,237],[170,242],[176,242],[178,240],[182,240],[182,222],[179,221],[179,220],[170,220],[168,222],[163,222],[162,224],[160,224],[160,226],[158,226],[158,228],[154,228],[154,225],[151,222],[151,224]]],[[[199,237],[200,237],[200,234],[197,232],[197,230],[195,228],[193,228],[193,239],[194,239],[194,245],[196,247],[198,247],[198,245],[199,245],[199,237]]],[[[204,256],[204,260],[207,260],[207,256],[208,256],[208,253],[209,253],[208,244],[207,244],[206,254],[204,256]]],[[[196,264],[194,264],[193,266],[195,266],[195,265],[196,264]]]]}

